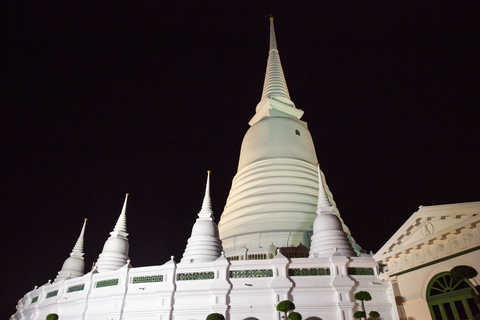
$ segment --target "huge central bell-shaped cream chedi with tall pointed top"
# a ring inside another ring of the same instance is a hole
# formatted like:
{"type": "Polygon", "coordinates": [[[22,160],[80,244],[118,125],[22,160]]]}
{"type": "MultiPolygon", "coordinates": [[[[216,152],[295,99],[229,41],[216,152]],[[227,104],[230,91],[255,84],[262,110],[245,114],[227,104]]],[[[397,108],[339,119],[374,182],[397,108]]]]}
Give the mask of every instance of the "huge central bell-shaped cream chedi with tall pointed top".
{"type": "MultiPolygon", "coordinates": [[[[318,161],[302,115],[290,100],[270,18],[262,98],[243,139],[238,172],[218,225],[226,255],[232,259],[246,259],[247,252],[267,258],[272,244],[300,246],[293,256],[308,251],[317,217],[318,161]]],[[[325,181],[323,185],[339,216],[325,181]]],[[[343,229],[349,234],[345,224],[343,229]]]]}

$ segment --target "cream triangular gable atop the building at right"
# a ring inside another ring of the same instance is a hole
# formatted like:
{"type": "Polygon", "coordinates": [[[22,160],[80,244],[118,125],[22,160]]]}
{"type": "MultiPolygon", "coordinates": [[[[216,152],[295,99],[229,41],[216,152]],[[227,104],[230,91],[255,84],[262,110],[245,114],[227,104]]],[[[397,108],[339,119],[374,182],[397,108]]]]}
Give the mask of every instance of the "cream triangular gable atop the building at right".
{"type": "Polygon", "coordinates": [[[386,261],[399,253],[419,247],[452,231],[468,228],[480,219],[480,201],[435,206],[420,206],[374,255],[386,261]]]}

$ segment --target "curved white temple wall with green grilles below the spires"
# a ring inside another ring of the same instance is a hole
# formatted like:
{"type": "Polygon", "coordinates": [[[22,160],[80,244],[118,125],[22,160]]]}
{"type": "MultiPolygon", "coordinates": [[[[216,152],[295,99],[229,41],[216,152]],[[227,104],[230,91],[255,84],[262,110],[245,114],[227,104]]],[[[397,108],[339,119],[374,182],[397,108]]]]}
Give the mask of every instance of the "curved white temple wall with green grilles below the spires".
{"type": "Polygon", "coordinates": [[[55,312],[69,320],[203,320],[218,312],[227,320],[280,320],[276,305],[288,299],[304,319],[343,320],[353,319],[359,308],[353,294],[360,290],[372,294],[367,311],[377,310],[382,319],[398,319],[391,285],[378,278],[372,258],[287,259],[281,254],[270,260],[228,262],[222,256],[214,262],[170,261],[89,273],[32,290],[16,319],[43,320],[55,312]],[[78,291],[68,292],[69,288],[78,291]],[[54,290],[58,295],[46,298],[54,290]]]}

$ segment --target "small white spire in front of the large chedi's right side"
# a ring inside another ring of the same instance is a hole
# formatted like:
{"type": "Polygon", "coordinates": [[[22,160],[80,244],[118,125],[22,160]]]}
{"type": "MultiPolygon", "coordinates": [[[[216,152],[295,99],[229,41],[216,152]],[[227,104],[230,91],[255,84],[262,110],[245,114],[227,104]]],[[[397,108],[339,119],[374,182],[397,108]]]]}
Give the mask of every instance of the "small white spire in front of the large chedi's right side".
{"type": "Polygon", "coordinates": [[[328,199],[319,164],[317,170],[319,182],[317,218],[313,223],[309,257],[330,257],[335,252],[347,257],[356,256],[347,234],[343,231],[342,222],[328,199]]]}

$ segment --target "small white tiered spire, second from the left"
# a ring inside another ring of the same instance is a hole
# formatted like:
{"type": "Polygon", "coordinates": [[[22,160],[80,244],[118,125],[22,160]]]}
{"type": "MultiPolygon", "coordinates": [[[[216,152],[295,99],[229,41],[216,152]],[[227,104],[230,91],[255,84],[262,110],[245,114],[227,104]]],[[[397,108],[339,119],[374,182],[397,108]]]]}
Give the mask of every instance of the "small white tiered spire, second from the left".
{"type": "Polygon", "coordinates": [[[127,199],[125,196],[122,212],[118,217],[115,228],[110,232],[110,237],[103,246],[103,251],[96,264],[99,272],[117,270],[127,264],[128,260],[128,233],[127,233],[127,199]]]}

